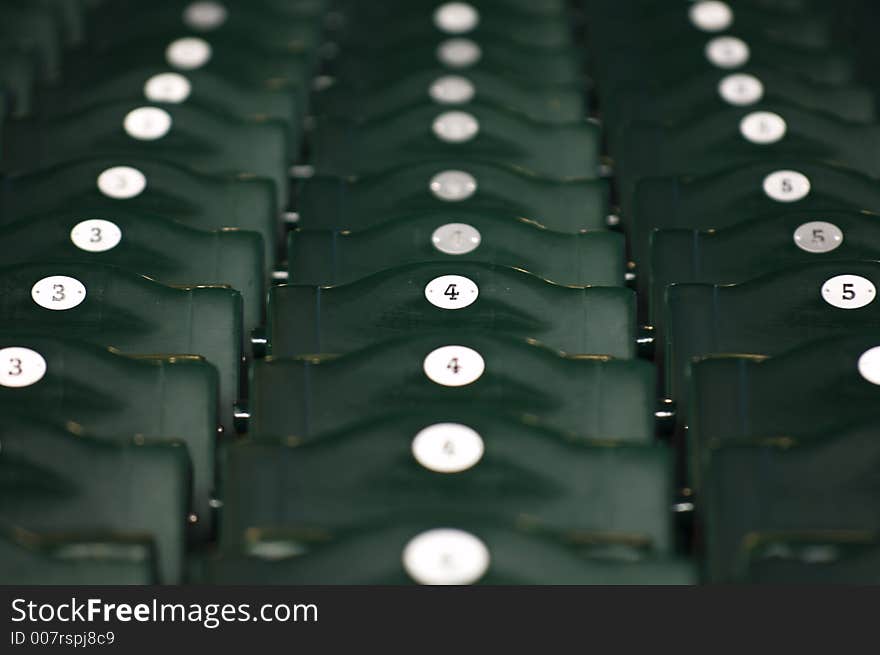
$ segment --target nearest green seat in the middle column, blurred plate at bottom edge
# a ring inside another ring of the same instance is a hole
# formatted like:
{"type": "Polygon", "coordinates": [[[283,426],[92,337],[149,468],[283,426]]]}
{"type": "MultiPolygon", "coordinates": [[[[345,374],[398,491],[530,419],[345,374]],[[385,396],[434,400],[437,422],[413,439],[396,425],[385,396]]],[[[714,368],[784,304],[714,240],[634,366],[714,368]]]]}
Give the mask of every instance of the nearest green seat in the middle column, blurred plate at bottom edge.
{"type": "MultiPolygon", "coordinates": [[[[523,525],[524,524],[524,525],[523,525]]],[[[213,584],[692,585],[687,561],[627,536],[556,533],[455,512],[381,524],[249,535],[209,564],[213,584]]]]}

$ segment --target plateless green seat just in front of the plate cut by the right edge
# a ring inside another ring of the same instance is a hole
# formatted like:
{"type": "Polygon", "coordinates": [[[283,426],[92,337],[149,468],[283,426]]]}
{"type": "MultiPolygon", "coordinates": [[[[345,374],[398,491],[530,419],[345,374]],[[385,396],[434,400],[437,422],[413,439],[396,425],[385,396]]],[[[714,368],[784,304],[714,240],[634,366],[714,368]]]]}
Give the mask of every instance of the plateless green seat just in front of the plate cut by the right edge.
{"type": "Polygon", "coordinates": [[[755,533],[876,534],[878,458],[876,421],[713,449],[701,493],[709,581],[735,579],[737,560],[755,533]]]}

